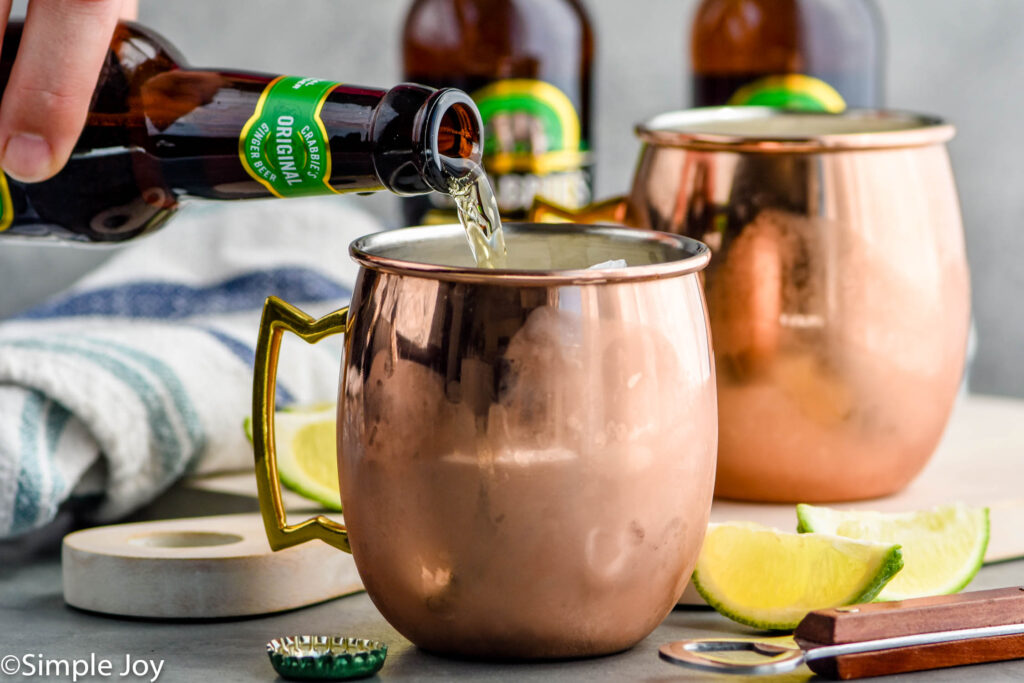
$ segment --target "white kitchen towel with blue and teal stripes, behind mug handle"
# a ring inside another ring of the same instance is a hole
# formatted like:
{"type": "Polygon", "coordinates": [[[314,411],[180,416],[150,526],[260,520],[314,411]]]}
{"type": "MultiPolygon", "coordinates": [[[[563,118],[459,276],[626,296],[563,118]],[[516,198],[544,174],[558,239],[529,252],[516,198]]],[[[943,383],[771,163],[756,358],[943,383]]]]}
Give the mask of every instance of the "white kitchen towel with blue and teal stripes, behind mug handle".
{"type": "MultiPolygon", "coordinates": [[[[242,424],[263,300],[312,315],[347,303],[348,244],[380,229],[353,201],[188,207],[0,323],[0,539],[69,502],[109,521],[186,472],[251,467],[242,424]]],[[[340,349],[286,341],[279,401],[334,399],[340,349]]]]}

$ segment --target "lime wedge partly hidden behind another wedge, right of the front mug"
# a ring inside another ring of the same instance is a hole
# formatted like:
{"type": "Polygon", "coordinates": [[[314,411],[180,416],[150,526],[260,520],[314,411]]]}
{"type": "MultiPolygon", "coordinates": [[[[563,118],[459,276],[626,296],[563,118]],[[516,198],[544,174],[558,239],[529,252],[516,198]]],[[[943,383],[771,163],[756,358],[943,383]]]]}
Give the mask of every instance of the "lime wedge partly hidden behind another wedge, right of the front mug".
{"type": "Polygon", "coordinates": [[[988,548],[988,508],[961,504],[895,514],[798,505],[797,521],[800,531],[902,546],[906,567],[879,600],[956,593],[978,573],[988,548]]]}

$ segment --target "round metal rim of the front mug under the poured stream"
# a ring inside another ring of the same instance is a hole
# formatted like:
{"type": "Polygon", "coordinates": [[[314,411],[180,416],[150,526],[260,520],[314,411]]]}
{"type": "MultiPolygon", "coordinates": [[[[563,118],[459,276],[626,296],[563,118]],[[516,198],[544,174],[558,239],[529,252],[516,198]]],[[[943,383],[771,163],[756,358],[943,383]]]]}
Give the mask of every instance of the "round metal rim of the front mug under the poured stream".
{"type": "MultiPolygon", "coordinates": [[[[622,268],[526,270],[520,268],[481,268],[443,265],[395,258],[379,253],[382,249],[413,244],[422,240],[451,239],[454,233],[465,236],[458,223],[416,225],[373,232],[354,240],[348,252],[359,265],[373,270],[415,275],[449,282],[552,287],[563,285],[600,285],[604,283],[662,280],[698,272],[711,260],[708,245],[681,234],[614,225],[581,225],[569,223],[506,222],[507,233],[544,232],[548,234],[587,233],[605,236],[628,242],[652,242],[678,250],[682,257],[660,263],[629,265],[622,268]],[[416,236],[413,236],[416,232],[416,236]]],[[[466,246],[469,249],[469,246],[466,246]]]]}

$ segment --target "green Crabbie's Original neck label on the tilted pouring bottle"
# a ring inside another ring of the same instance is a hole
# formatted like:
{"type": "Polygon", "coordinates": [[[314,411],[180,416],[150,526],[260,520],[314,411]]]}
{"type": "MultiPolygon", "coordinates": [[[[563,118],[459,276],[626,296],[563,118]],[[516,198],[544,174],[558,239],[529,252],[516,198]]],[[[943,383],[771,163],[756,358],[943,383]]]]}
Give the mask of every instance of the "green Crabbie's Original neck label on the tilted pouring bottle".
{"type": "Polygon", "coordinates": [[[279,76],[260,95],[239,136],[239,158],[274,197],[337,191],[331,186],[331,146],[321,110],[339,85],[279,76]]]}

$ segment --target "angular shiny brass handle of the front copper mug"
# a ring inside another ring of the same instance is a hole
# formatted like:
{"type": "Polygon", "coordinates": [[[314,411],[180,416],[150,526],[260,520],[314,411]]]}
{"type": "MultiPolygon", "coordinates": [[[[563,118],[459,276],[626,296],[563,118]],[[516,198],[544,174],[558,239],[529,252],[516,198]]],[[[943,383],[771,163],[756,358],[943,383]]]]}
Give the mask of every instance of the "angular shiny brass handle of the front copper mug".
{"type": "Polygon", "coordinates": [[[263,515],[266,539],[273,550],[319,539],[346,553],[352,552],[348,545],[348,530],[333,519],[316,515],[298,524],[288,523],[285,506],[281,501],[273,433],[273,399],[278,385],[278,356],[281,352],[282,335],[288,331],[309,344],[315,344],[324,337],[344,334],[347,325],[348,306],[316,321],[278,297],[268,297],[263,304],[253,375],[253,455],[259,509],[263,515]]]}

